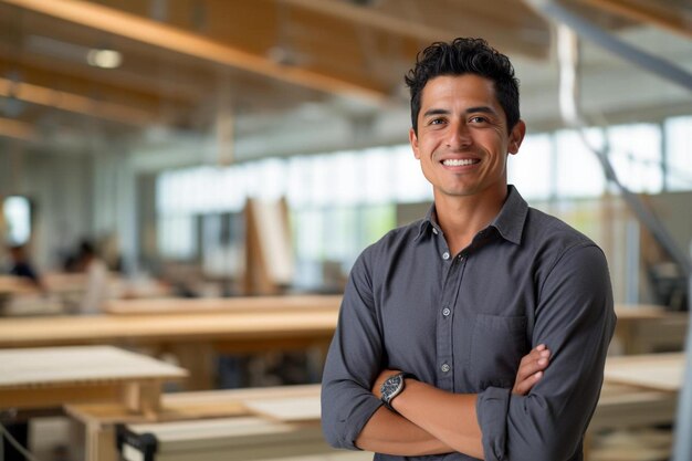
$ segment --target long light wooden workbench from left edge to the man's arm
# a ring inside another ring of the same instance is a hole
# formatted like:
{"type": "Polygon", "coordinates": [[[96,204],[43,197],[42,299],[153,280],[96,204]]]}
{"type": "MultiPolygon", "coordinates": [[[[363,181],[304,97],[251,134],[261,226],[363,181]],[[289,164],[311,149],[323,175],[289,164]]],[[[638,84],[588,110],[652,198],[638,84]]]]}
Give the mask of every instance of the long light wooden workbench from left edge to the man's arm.
{"type": "MultiPolygon", "coordinates": [[[[232,308],[217,308],[198,300],[208,307],[193,312],[191,304],[182,302],[174,307],[185,304],[189,311],[175,307],[128,315],[1,318],[0,348],[111,344],[146,348],[156,356],[172,353],[190,371],[188,389],[213,387],[219,353],[326,350],[338,317],[337,297],[301,297],[304,305],[293,297],[242,300],[250,307],[235,300],[232,308]]],[[[156,300],[149,302],[160,306],[156,300]]]]}

